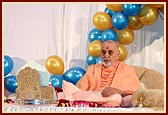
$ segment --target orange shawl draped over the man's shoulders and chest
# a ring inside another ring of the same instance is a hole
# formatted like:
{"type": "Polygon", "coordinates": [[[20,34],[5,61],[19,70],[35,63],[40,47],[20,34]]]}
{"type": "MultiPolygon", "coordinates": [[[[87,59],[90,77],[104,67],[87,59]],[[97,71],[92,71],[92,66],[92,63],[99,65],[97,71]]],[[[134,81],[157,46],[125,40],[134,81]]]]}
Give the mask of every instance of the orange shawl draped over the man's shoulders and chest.
{"type": "Polygon", "coordinates": [[[113,74],[111,75],[113,78],[107,78],[111,81],[108,82],[106,80],[106,82],[108,82],[109,85],[111,84],[110,86],[113,88],[133,93],[140,87],[140,82],[134,72],[134,69],[131,66],[119,61],[110,68],[104,68],[102,64],[91,66],[76,85],[83,91],[100,91],[105,88],[102,87],[101,81],[105,80],[102,77],[102,73],[108,75],[108,72],[113,74]]]}

